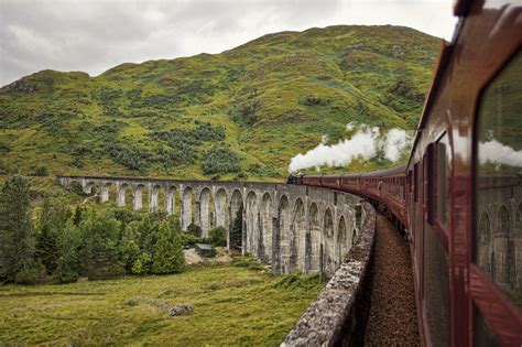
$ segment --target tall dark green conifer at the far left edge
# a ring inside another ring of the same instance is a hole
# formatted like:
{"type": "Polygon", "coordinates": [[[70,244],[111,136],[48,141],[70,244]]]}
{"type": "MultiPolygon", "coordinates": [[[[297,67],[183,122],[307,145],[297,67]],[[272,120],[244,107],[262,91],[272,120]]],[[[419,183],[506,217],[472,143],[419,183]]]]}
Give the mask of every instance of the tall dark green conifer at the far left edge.
{"type": "Polygon", "coordinates": [[[14,175],[0,194],[0,276],[8,281],[24,278],[34,269],[29,188],[26,178],[14,175]]]}

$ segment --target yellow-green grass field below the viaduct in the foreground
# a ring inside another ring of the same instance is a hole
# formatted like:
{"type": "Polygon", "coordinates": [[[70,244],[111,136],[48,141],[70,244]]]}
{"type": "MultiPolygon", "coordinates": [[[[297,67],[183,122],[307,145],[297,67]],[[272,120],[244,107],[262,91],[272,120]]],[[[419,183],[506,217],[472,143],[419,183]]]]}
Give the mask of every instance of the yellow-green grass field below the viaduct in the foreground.
{"type": "Polygon", "coordinates": [[[0,286],[0,345],[279,345],[322,285],[231,265],[163,276],[0,286]],[[279,284],[278,284],[279,283],[279,284]],[[167,317],[161,303],[191,304],[167,317]]]}

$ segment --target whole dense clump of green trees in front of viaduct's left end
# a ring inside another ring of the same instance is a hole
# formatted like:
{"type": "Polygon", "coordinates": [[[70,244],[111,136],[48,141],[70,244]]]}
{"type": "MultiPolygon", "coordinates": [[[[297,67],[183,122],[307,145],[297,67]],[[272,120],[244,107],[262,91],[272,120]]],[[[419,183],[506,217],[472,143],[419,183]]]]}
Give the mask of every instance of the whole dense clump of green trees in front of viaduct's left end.
{"type": "MultiPolygon", "coordinates": [[[[160,217],[160,216],[157,216],[160,217]]],[[[7,281],[70,282],[126,273],[172,273],[185,268],[173,219],[99,213],[44,202],[33,227],[29,183],[9,178],[0,194],[0,276],[7,281]]]]}

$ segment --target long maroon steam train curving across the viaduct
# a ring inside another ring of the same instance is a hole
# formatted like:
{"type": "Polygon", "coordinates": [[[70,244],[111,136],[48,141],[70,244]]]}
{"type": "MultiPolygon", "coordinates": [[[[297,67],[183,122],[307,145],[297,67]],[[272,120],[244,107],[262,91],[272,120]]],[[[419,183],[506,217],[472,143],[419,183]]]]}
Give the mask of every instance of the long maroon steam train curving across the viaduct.
{"type": "Polygon", "coordinates": [[[388,209],[407,235],[423,345],[521,346],[522,6],[457,1],[454,13],[407,164],[289,183],[388,209]]]}

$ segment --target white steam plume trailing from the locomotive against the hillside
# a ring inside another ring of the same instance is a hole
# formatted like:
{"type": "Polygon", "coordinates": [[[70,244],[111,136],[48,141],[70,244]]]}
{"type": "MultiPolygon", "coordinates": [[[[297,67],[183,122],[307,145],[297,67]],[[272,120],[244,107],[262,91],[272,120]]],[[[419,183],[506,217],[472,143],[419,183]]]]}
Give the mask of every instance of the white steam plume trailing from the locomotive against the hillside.
{"type": "Polygon", "coordinates": [[[372,159],[379,152],[384,153],[385,159],[395,162],[412,143],[412,135],[403,129],[391,129],[381,135],[378,127],[370,128],[366,124],[356,127],[354,123],[346,126],[347,131],[356,128],[359,130],[350,139],[341,140],[337,144],[327,145],[326,138],[323,137],[322,143],[316,148],[292,158],[289,172],[323,165],[346,165],[356,158],[372,159]]]}

